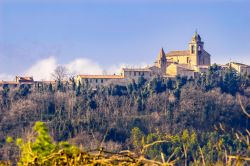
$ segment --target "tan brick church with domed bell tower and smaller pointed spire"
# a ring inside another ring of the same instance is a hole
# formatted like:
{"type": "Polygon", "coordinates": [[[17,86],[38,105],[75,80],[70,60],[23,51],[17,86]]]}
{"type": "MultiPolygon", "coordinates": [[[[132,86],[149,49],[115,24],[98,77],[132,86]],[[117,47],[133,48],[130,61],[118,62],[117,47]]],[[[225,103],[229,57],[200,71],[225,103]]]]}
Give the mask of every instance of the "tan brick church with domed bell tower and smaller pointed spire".
{"type": "Polygon", "coordinates": [[[156,68],[152,67],[152,69],[157,70],[158,68],[161,75],[166,77],[177,75],[194,77],[197,73],[207,72],[210,65],[211,55],[205,51],[204,42],[195,32],[188,50],[165,53],[162,48],[155,62],[156,68]]]}

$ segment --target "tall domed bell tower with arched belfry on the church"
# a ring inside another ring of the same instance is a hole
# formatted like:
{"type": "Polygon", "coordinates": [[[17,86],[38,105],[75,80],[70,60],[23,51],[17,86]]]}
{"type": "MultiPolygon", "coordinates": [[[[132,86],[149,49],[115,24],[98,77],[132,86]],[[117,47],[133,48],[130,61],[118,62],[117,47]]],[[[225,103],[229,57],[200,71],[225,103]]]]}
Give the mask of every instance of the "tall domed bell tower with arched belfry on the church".
{"type": "Polygon", "coordinates": [[[200,35],[195,31],[191,42],[189,43],[190,64],[193,66],[200,65],[200,58],[204,48],[204,42],[201,40],[200,35]]]}

